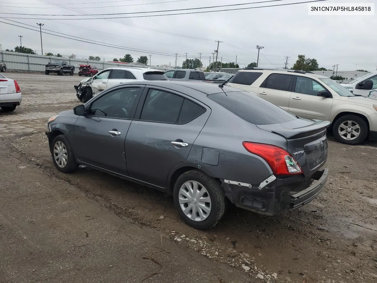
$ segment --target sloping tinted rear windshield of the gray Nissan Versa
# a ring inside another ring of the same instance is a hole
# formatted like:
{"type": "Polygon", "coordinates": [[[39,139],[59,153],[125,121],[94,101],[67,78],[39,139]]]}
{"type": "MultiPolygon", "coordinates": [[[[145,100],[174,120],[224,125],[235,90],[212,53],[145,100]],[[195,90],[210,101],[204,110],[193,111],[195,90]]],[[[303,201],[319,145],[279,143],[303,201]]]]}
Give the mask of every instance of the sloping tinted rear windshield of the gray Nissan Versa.
{"type": "Polygon", "coordinates": [[[207,97],[254,125],[278,124],[297,119],[282,108],[246,91],[221,92],[207,97]]]}

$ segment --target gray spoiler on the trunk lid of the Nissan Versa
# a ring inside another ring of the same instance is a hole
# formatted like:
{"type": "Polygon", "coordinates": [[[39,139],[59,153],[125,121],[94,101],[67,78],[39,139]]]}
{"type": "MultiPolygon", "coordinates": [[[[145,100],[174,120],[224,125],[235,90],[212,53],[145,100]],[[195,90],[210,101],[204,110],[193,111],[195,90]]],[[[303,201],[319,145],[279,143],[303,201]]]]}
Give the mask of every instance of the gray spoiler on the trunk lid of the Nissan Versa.
{"type": "MultiPolygon", "coordinates": [[[[311,122],[310,120],[299,119],[302,122],[311,122]]],[[[306,124],[305,123],[296,123],[296,121],[291,121],[287,123],[280,124],[270,124],[270,125],[256,125],[259,129],[273,132],[274,134],[281,135],[287,140],[294,138],[303,138],[311,135],[318,134],[325,131],[330,125],[329,121],[314,120],[314,123],[306,124]],[[297,127],[295,127],[297,126],[297,127]]]]}

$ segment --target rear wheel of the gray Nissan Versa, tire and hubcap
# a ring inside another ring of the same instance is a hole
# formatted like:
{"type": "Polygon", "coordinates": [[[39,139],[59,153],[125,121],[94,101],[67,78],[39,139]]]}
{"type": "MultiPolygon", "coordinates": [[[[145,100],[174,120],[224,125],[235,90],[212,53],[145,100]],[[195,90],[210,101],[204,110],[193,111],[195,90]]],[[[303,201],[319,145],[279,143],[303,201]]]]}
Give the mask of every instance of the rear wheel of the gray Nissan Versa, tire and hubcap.
{"type": "Polygon", "coordinates": [[[223,217],[227,204],[219,183],[196,169],[178,178],[173,197],[175,207],[185,223],[200,230],[215,226],[223,217]]]}

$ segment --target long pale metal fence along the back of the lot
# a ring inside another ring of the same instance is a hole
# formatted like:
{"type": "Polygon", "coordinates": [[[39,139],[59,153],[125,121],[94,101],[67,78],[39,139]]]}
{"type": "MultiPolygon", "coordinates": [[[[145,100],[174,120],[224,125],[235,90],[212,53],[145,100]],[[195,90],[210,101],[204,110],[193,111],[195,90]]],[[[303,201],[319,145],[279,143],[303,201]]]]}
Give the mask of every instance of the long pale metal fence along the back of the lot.
{"type": "MultiPolygon", "coordinates": [[[[6,64],[6,68],[10,71],[30,71],[30,72],[44,72],[45,65],[51,62],[53,59],[66,60],[69,65],[75,66],[75,73],[78,73],[78,68],[80,64],[93,65],[98,68],[98,70],[103,70],[111,67],[123,67],[123,68],[149,68],[149,66],[140,66],[122,63],[112,63],[105,61],[91,61],[91,60],[81,60],[77,58],[66,58],[66,57],[55,57],[55,56],[45,56],[36,54],[24,54],[18,52],[1,51],[0,61],[6,64]]],[[[169,68],[151,66],[153,69],[159,69],[162,71],[169,70],[169,68]]]]}

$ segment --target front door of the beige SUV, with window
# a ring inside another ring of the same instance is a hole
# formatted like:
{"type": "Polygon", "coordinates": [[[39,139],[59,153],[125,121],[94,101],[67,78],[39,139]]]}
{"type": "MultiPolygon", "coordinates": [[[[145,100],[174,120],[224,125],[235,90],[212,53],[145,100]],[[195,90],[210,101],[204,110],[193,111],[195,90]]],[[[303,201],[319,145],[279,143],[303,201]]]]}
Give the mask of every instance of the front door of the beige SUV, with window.
{"type": "Polygon", "coordinates": [[[333,98],[317,96],[327,89],[319,82],[297,76],[290,96],[288,111],[307,119],[329,120],[333,98]]]}

